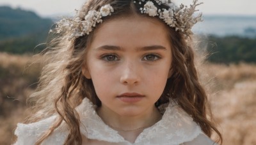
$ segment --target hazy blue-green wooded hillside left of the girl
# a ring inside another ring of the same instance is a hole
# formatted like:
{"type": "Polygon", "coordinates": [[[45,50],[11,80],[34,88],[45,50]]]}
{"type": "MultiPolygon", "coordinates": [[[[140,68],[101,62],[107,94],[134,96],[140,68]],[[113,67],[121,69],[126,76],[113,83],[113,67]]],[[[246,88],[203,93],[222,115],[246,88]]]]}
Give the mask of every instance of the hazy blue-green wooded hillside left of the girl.
{"type": "MultiPolygon", "coordinates": [[[[52,24],[51,19],[40,18],[32,11],[0,6],[0,51],[34,53],[35,46],[46,41],[52,24]]],[[[36,48],[36,52],[42,48],[36,48]]]]}

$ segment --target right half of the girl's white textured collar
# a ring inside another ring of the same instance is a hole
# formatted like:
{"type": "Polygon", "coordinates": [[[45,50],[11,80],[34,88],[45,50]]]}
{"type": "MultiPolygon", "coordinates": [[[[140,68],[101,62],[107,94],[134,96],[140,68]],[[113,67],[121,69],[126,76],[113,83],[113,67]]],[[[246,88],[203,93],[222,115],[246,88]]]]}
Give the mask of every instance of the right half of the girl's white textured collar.
{"type": "Polygon", "coordinates": [[[145,129],[136,142],[161,138],[172,141],[172,144],[180,144],[192,141],[201,132],[201,128],[179,106],[168,106],[162,120],[153,127],[145,129]]]}

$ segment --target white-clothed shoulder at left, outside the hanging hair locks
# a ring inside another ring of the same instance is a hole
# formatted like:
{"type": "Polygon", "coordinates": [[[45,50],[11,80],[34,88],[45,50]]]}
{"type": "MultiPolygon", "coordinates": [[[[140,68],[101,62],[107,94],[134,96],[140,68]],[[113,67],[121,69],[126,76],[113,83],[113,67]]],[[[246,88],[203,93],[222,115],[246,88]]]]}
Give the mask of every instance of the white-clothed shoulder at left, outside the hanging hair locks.
{"type": "Polygon", "coordinates": [[[44,134],[49,127],[51,127],[55,120],[56,116],[51,116],[45,120],[35,123],[18,123],[14,133],[17,135],[17,142],[15,144],[35,144],[37,139],[39,139],[39,137],[44,134]]]}

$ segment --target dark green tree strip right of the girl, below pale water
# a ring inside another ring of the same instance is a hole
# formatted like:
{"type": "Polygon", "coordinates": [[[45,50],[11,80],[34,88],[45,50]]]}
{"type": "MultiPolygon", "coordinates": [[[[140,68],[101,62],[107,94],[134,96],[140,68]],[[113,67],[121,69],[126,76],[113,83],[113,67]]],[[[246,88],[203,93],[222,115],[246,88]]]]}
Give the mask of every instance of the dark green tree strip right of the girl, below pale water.
{"type": "Polygon", "coordinates": [[[209,36],[207,43],[210,62],[224,64],[256,62],[256,38],[209,36]]]}

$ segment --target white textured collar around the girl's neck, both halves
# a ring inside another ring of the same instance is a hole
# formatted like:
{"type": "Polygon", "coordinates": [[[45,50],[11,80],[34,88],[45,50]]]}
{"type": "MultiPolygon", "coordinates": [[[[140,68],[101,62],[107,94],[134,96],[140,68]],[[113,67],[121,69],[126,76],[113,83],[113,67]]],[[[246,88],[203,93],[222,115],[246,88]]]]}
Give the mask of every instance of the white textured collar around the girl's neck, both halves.
{"type": "MultiPolygon", "coordinates": [[[[90,100],[83,99],[83,102],[77,107],[77,111],[81,117],[81,133],[88,139],[131,144],[102,121],[90,100]]],[[[162,120],[152,127],[145,128],[134,144],[141,144],[142,142],[143,144],[145,142],[152,144],[152,142],[159,143],[159,141],[168,142],[168,144],[181,144],[192,141],[200,133],[202,130],[193,119],[177,104],[170,102],[162,120]]]]}

